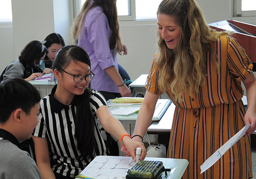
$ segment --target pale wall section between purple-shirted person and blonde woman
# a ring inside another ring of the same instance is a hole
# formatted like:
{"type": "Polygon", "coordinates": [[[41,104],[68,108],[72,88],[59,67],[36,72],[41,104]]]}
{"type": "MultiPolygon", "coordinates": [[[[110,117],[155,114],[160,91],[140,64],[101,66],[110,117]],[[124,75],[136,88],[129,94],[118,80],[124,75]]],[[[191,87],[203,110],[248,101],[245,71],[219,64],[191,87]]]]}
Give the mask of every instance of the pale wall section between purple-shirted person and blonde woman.
{"type": "Polygon", "coordinates": [[[118,55],[118,62],[135,80],[141,74],[147,74],[153,55],[157,52],[157,23],[120,22],[122,42],[128,48],[127,55],[118,55]]]}

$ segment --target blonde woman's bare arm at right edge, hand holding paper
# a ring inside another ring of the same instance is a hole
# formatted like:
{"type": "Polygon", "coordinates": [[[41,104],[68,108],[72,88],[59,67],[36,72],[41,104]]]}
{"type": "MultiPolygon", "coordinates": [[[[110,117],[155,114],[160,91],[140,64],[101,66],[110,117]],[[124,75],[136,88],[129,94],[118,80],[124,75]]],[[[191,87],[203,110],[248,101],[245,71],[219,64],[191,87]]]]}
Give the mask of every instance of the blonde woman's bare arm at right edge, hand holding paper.
{"type": "Polygon", "coordinates": [[[256,130],[256,77],[253,73],[243,81],[247,94],[247,111],[244,117],[245,124],[250,123],[250,128],[246,131],[246,135],[256,130]]]}

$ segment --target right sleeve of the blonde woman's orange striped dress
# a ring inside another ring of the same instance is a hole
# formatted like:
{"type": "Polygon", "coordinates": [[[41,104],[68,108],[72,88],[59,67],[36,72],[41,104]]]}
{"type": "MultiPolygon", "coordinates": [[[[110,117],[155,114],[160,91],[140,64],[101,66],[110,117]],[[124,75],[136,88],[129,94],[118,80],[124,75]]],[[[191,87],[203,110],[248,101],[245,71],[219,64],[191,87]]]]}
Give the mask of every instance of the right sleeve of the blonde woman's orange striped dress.
{"type": "Polygon", "coordinates": [[[228,38],[227,63],[230,72],[238,81],[245,80],[252,73],[253,64],[240,44],[228,38]]]}

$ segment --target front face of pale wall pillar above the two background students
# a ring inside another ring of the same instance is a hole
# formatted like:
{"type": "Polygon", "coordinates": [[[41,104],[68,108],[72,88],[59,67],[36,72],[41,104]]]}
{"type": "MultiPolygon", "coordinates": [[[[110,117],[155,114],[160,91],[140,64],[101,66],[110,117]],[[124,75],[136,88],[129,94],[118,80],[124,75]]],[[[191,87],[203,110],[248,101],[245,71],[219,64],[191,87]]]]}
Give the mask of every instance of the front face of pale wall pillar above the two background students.
{"type": "Polygon", "coordinates": [[[12,0],[15,59],[32,40],[42,41],[54,32],[51,0],[12,0]]]}

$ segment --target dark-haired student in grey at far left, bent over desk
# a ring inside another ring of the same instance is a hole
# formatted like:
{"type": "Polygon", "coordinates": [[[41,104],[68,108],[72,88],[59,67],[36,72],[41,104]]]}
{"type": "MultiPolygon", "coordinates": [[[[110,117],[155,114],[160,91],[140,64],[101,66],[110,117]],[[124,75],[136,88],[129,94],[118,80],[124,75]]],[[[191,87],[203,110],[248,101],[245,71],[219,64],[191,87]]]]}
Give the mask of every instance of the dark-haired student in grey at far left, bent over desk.
{"type": "Polygon", "coordinates": [[[18,59],[7,65],[0,76],[0,81],[11,78],[23,78],[30,81],[41,77],[41,73],[33,73],[33,68],[36,64],[39,64],[41,59],[45,58],[47,53],[47,48],[40,41],[33,40],[29,42],[18,59]]]}

